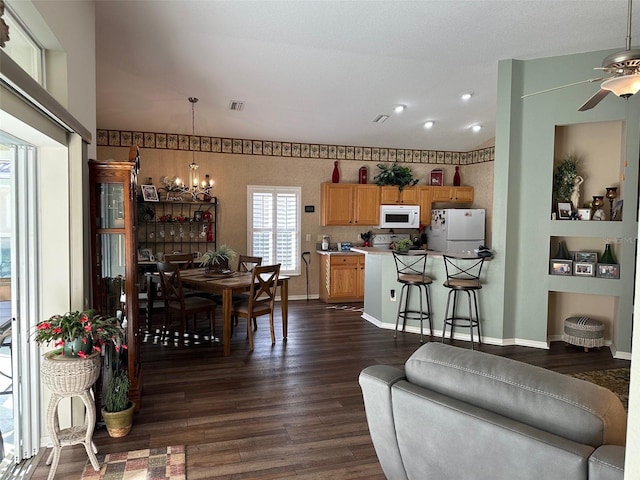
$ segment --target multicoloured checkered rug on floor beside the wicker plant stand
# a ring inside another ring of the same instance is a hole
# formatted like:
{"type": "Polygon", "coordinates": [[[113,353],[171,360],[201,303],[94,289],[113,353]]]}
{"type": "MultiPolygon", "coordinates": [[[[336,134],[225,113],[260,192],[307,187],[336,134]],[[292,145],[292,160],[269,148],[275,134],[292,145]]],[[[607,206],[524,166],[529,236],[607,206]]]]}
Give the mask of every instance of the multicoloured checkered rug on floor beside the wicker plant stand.
{"type": "Polygon", "coordinates": [[[177,445],[96,455],[100,471],[87,461],[82,480],[185,480],[185,447],[177,445]]]}

